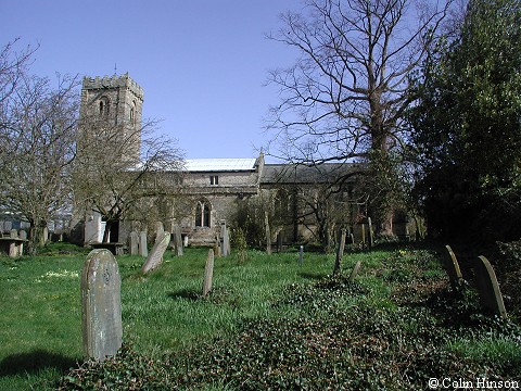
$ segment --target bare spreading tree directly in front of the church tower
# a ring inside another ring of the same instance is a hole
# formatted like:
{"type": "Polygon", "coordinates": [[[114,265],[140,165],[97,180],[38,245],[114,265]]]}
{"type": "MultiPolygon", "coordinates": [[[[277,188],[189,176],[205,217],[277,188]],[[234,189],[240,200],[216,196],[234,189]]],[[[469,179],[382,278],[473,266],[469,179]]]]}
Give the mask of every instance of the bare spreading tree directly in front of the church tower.
{"type": "MultiPolygon", "coordinates": [[[[160,201],[171,204],[181,189],[182,152],[155,135],[155,121],[128,128],[84,115],[75,163],[75,204],[106,222],[103,242],[119,220],[145,222],[160,201]]],[[[164,206],[164,205],[163,205],[164,206]]]]}

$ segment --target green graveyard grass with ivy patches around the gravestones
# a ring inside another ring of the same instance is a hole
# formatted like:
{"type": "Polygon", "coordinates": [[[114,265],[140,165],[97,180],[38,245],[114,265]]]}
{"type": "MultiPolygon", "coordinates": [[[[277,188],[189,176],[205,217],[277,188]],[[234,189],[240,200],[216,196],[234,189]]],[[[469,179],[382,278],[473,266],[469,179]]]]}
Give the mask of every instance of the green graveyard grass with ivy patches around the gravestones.
{"type": "Polygon", "coordinates": [[[141,257],[117,257],[125,342],[104,364],[82,358],[86,253],[0,258],[0,390],[53,389],[60,378],[63,389],[401,389],[424,388],[433,368],[521,375],[519,325],[452,294],[432,251],[346,254],[344,275],[364,265],[355,283],[327,277],[334,255],[306,253],[300,266],[297,253],[251,251],[216,258],[202,299],[206,255],[167,252],[147,276],[141,257]]]}

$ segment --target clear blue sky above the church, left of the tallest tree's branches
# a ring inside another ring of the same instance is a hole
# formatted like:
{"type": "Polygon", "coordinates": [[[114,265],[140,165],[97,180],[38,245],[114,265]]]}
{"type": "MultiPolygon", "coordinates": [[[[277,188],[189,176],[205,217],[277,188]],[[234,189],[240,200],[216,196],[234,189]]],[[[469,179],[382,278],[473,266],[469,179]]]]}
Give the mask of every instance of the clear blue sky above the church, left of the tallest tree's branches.
{"type": "Polygon", "coordinates": [[[279,101],[268,71],[297,53],[265,38],[301,0],[0,0],[0,45],[40,46],[31,72],[129,73],[143,116],[162,119],[187,159],[255,157],[279,101]]]}

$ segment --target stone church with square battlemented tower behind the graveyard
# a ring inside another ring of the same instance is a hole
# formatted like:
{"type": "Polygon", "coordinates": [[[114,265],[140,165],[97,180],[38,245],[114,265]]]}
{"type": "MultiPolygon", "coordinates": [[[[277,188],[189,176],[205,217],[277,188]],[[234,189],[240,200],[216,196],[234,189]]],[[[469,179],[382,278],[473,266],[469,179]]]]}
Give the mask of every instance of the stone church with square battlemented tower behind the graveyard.
{"type": "MultiPolygon", "coordinates": [[[[129,154],[139,159],[143,97],[128,74],[85,77],[80,119],[94,116],[118,126],[122,135],[132,135],[129,154]]],[[[97,137],[90,128],[81,128],[81,121],[79,133],[91,140],[97,137]]],[[[180,226],[188,245],[213,245],[225,225],[241,228],[253,244],[262,240],[266,225],[274,242],[323,242],[340,226],[354,231],[364,214],[364,203],[356,202],[356,164],[267,164],[260,152],[247,159],[189,159],[179,169],[182,214],[167,211],[157,219],[167,231],[180,226]]],[[[102,241],[104,218],[94,210],[79,216],[85,245],[102,241]]],[[[139,229],[143,228],[153,238],[154,225],[149,222],[139,229]]],[[[125,243],[132,229],[136,222],[117,222],[110,241],[125,243]]]]}

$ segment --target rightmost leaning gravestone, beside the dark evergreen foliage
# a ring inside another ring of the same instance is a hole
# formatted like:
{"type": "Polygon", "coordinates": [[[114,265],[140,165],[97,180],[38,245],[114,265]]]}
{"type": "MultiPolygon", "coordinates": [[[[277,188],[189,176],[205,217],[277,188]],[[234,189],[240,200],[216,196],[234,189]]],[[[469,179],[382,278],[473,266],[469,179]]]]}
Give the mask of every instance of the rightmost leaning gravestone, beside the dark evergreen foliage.
{"type": "Polygon", "coordinates": [[[492,311],[494,314],[501,317],[507,316],[505,304],[503,302],[501,291],[497,283],[496,274],[484,256],[479,256],[474,267],[475,283],[478,286],[478,292],[480,293],[481,305],[492,311]]]}

